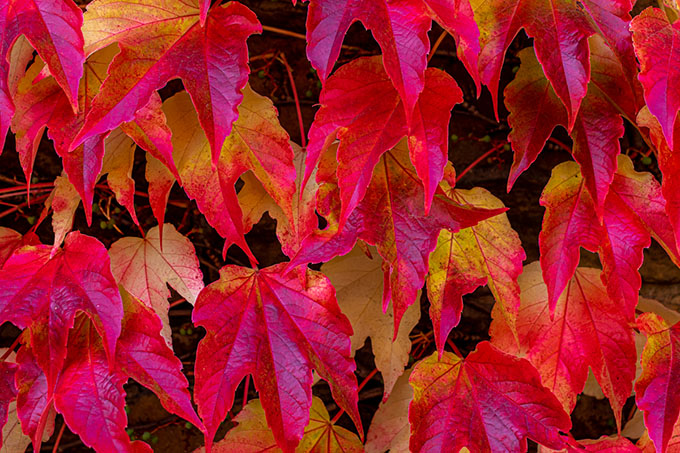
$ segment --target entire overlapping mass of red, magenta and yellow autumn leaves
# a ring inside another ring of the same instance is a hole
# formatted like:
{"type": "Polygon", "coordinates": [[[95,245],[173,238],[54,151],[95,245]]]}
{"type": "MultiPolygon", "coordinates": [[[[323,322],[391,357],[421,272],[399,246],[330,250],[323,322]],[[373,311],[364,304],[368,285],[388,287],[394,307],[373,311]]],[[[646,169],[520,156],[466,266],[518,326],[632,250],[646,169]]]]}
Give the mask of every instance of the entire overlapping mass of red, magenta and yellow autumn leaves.
{"type": "Polygon", "coordinates": [[[680,21],[672,5],[631,19],[632,8],[309,0],[307,55],[323,89],[302,149],[247,85],[246,40],[262,27],[238,2],[94,0],[84,14],[72,0],[2,2],[0,135],[14,133],[30,181],[47,130],[64,172],[43,215],[52,212],[53,244],[0,232],[0,321],[23,329],[16,357],[0,363],[0,421],[18,418],[36,449],[59,413],[97,451],[149,451],[125,431],[132,378],[199,427],[208,451],[501,452],[526,450],[527,438],[561,451],[677,448],[680,327],[653,313],[636,318],[636,307],[652,237],[680,264],[680,21]],[[334,69],[355,21],[381,55],[334,69]],[[508,189],[558,126],[575,161],[554,168],[541,197],[540,263],[523,267],[498,199],[456,188],[448,126],[463,94],[427,67],[433,22],[455,38],[495,107],[506,51],[520,30],[533,38],[503,93],[515,155],[508,189]],[[175,78],[186,91],[162,100],[157,90],[175,78]],[[661,184],[621,153],[626,127],[656,153],[661,184]],[[108,250],[70,232],[81,201],[91,221],[104,175],[139,225],[136,147],[159,226],[108,250]],[[175,183],[224,238],[224,253],[240,247],[250,268],[225,266],[204,287],[192,243],[164,226],[175,183]],[[264,212],[290,261],[259,269],[244,235],[264,212]],[[578,267],[581,247],[602,269],[578,267]],[[307,267],[319,262],[320,271],[307,267]],[[195,304],[193,322],[206,330],[197,411],[172,351],[168,285],[195,304]],[[462,357],[447,338],[462,296],[482,285],[496,300],[491,341],[462,357]],[[404,371],[423,288],[437,352],[404,371]],[[352,356],[368,336],[385,400],[362,442],[352,356]],[[647,429],[637,446],[568,434],[589,369],[619,431],[634,391],[647,429]],[[358,436],[313,397],[313,370],[358,436]],[[213,446],[249,375],[260,399],[213,446]]]}

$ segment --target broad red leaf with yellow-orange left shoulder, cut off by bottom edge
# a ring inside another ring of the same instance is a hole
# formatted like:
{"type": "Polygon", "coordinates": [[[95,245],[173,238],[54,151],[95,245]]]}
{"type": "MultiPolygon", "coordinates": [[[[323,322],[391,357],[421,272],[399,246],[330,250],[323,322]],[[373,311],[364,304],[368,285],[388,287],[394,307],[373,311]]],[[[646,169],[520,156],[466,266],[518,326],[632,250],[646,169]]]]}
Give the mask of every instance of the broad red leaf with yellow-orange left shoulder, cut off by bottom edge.
{"type": "Polygon", "coordinates": [[[534,367],[482,342],[465,359],[445,352],[409,379],[410,450],[526,451],[527,437],[559,449],[571,421],[534,367]]]}

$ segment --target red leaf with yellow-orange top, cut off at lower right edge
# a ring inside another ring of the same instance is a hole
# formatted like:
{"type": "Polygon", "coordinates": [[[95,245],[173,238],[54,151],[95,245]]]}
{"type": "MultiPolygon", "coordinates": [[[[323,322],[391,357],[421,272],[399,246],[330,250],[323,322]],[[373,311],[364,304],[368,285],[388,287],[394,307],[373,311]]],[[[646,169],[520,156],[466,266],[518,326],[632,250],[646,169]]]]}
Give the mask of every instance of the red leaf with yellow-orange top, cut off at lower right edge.
{"type": "Polygon", "coordinates": [[[677,349],[680,325],[668,326],[658,315],[643,313],[638,328],[647,335],[642,352],[642,375],[635,382],[635,402],[657,451],[667,451],[680,414],[680,398],[671,390],[680,375],[677,349]]]}

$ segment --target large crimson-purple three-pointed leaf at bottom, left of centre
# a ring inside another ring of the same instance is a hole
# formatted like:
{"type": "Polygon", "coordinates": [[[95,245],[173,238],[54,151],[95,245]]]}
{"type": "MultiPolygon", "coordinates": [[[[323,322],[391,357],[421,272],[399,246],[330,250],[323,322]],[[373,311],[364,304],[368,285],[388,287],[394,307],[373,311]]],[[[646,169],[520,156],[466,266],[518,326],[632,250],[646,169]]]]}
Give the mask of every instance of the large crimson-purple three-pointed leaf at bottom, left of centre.
{"type": "Polygon", "coordinates": [[[295,273],[282,274],[284,268],[225,266],[220,280],[198,296],[193,321],[207,334],[196,356],[195,397],[208,446],[248,374],[285,451],[295,449],[309,420],[312,368],[361,431],[352,328],[335,291],[318,272],[308,270],[303,286],[295,273]]]}

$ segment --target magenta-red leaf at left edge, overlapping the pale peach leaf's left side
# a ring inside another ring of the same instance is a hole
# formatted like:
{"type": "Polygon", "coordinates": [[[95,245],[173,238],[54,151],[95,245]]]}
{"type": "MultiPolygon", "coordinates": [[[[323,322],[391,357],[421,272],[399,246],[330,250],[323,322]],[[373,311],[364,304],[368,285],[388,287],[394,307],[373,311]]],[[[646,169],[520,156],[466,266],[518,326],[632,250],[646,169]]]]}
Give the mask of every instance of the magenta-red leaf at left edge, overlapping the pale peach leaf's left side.
{"type": "Polygon", "coordinates": [[[113,360],[123,307],[106,248],[97,239],[73,232],[61,250],[26,246],[0,271],[0,319],[29,329],[50,389],[66,359],[67,334],[77,311],[92,318],[113,360]]]}

